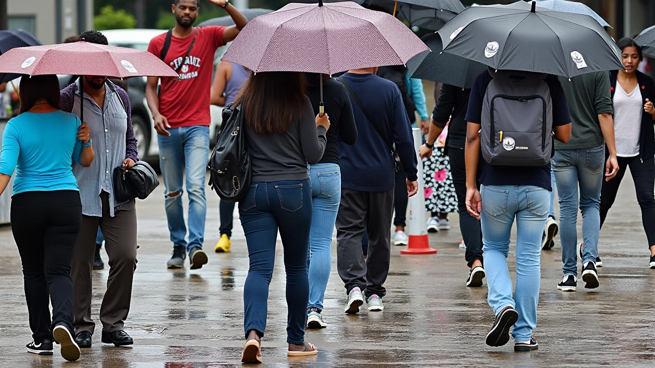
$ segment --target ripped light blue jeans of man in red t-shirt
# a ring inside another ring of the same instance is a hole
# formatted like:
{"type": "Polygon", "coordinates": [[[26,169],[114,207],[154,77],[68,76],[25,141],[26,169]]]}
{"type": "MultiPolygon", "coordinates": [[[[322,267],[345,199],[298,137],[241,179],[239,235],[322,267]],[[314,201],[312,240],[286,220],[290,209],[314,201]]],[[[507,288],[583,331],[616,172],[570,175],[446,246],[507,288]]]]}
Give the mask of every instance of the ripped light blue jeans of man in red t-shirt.
{"type": "Polygon", "coordinates": [[[185,126],[169,129],[170,137],[157,135],[159,164],[166,198],[166,218],[170,241],[174,246],[202,248],[207,200],[204,193],[205,173],[209,156],[209,127],[185,126]],[[182,193],[184,174],[189,193],[189,242],[185,240],[182,193]]]}

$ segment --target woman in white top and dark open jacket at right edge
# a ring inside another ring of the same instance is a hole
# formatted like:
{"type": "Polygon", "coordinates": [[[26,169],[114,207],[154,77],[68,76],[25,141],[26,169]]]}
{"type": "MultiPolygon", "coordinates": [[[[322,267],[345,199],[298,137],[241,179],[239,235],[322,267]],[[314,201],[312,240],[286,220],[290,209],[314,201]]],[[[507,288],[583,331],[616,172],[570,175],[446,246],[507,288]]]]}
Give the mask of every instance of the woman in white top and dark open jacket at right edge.
{"type": "MultiPolygon", "coordinates": [[[[614,137],[618,174],[614,180],[603,181],[601,187],[601,227],[607,212],[614,204],[618,187],[630,168],[635,182],[637,202],[641,207],[641,219],[648,248],[650,249],[650,268],[655,268],[655,84],[652,78],[637,70],[643,60],[641,47],[633,39],[620,39],[616,45],[621,49],[621,59],[626,70],[610,72],[612,106],[614,108],[614,137]]],[[[605,151],[606,159],[608,151],[605,151]]],[[[602,264],[600,257],[597,265],[602,264]]]]}

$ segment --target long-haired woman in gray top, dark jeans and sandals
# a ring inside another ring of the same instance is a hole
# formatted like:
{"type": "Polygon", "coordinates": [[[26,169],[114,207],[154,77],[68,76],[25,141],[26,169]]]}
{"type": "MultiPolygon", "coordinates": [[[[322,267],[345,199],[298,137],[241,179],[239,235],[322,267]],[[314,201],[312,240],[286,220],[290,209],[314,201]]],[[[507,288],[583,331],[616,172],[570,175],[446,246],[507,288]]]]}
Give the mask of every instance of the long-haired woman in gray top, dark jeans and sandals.
{"type": "Polygon", "coordinates": [[[250,257],[244,285],[246,346],[241,361],[261,363],[260,340],[266,329],[278,230],[286,269],[288,356],[316,355],[316,346],[305,342],[312,225],[307,162],[315,164],[323,156],[329,120],[327,115],[314,117],[303,73],[253,74],[234,105],[242,109],[252,160],[250,189],[239,201],[250,257]]]}

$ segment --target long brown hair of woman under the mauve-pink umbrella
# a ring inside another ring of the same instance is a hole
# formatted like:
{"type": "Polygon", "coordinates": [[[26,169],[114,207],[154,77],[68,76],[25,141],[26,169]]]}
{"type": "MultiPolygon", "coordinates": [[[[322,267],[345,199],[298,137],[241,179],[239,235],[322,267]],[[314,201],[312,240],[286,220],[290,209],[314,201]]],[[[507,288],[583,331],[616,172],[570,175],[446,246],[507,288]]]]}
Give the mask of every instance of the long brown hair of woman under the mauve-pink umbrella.
{"type": "Polygon", "coordinates": [[[253,73],[234,99],[244,121],[259,134],[282,134],[298,119],[307,101],[305,74],[292,71],[253,73]]]}

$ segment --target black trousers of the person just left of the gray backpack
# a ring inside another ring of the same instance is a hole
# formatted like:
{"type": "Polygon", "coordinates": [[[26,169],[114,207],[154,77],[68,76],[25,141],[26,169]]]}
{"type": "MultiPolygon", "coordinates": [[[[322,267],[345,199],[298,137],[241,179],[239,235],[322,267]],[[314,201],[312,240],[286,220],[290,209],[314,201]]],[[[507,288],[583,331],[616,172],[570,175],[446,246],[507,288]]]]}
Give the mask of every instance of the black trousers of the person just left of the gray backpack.
{"type": "MultiPolygon", "coordinates": [[[[471,267],[475,261],[483,262],[482,259],[482,230],[480,221],[474,219],[466,210],[466,160],[464,149],[448,147],[448,158],[451,164],[451,175],[455,195],[457,195],[457,210],[459,212],[459,229],[462,232],[464,244],[466,244],[466,262],[471,267]]],[[[477,170],[476,185],[479,189],[479,174],[477,170]]]]}

